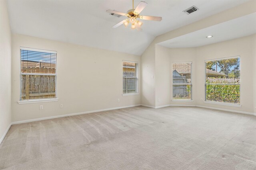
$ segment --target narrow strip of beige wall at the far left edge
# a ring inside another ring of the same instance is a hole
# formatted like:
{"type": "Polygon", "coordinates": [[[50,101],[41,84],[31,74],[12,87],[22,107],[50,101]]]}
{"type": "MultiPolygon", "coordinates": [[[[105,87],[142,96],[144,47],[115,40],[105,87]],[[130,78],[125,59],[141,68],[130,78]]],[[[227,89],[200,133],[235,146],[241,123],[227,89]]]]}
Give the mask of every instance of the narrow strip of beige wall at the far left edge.
{"type": "Polygon", "coordinates": [[[11,30],[5,0],[0,0],[0,143],[11,123],[11,30]]]}

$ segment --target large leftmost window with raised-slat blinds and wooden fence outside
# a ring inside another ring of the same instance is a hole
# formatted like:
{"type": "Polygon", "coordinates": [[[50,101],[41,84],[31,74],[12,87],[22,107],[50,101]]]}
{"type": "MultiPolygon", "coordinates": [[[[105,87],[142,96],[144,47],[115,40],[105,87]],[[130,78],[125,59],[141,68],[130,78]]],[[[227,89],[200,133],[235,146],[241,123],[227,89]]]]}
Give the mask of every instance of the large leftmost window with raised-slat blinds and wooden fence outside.
{"type": "Polygon", "coordinates": [[[56,98],[56,51],[20,49],[20,101],[56,98]]]}

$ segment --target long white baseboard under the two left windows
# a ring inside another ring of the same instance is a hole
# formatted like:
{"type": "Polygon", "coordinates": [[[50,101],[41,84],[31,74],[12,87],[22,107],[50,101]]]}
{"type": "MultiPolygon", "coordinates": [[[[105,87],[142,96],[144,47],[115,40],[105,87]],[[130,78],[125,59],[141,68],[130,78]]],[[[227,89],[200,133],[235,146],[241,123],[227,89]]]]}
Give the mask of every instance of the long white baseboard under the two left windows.
{"type": "Polygon", "coordinates": [[[108,109],[84,111],[84,112],[80,112],[80,113],[71,113],[71,114],[66,114],[66,115],[58,115],[58,116],[42,117],[42,118],[37,118],[37,119],[28,119],[28,120],[22,120],[22,121],[14,121],[14,122],[12,122],[12,125],[20,124],[20,123],[29,123],[29,122],[33,122],[33,121],[41,121],[41,120],[55,119],[55,118],[60,118],[60,117],[67,117],[67,116],[74,116],[74,115],[82,115],[82,114],[87,114],[87,113],[95,113],[95,112],[100,112],[100,111],[108,111],[108,110],[115,110],[115,109],[123,109],[123,108],[136,107],[136,106],[141,106],[141,105],[140,105],[140,104],[137,104],[137,105],[132,105],[132,106],[114,107],[114,108],[108,108],[108,109]]]}

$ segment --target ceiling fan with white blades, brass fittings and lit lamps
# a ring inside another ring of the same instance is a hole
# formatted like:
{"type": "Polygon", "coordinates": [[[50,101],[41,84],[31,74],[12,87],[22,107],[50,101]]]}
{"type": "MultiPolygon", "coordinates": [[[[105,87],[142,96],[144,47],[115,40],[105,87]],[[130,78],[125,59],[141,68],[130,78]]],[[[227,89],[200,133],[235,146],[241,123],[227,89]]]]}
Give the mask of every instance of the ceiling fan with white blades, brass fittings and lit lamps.
{"type": "Polygon", "coordinates": [[[116,28],[122,24],[124,24],[125,27],[127,27],[129,25],[129,23],[131,23],[131,28],[132,29],[137,29],[138,31],[141,30],[141,25],[142,22],[137,20],[137,18],[141,19],[141,20],[153,20],[153,21],[161,21],[162,17],[155,17],[155,16],[141,16],[140,12],[142,12],[142,10],[147,6],[147,3],[144,1],[141,1],[140,4],[134,9],[134,0],[132,0],[132,9],[128,10],[127,13],[122,13],[122,12],[118,12],[118,11],[114,11],[114,10],[106,10],[106,12],[110,12],[111,14],[117,14],[117,15],[121,15],[121,16],[126,16],[128,17],[125,20],[122,20],[121,22],[119,22],[118,24],[114,25],[113,28],[116,28]]]}

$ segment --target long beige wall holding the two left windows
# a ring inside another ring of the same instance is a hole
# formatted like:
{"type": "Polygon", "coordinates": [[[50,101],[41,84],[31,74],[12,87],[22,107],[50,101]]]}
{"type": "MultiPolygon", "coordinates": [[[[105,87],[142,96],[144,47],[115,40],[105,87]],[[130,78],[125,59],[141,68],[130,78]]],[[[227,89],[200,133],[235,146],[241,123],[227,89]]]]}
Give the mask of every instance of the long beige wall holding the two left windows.
{"type": "Polygon", "coordinates": [[[140,56],[13,34],[12,121],[140,104],[140,95],[122,96],[123,60],[137,61],[140,68],[140,56]],[[20,47],[57,51],[58,102],[17,103],[20,98],[20,47]],[[60,108],[60,104],[64,108],[60,108]],[[43,110],[39,110],[40,105],[43,110]]]}

